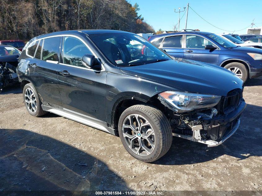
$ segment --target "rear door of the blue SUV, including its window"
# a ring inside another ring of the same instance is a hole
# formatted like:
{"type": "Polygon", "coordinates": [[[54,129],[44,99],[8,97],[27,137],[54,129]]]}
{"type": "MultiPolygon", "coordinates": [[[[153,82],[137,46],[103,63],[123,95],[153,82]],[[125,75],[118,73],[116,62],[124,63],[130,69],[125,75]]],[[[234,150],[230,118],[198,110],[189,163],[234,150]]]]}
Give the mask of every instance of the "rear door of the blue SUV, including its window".
{"type": "Polygon", "coordinates": [[[163,49],[167,51],[168,54],[170,54],[173,57],[177,58],[183,58],[183,36],[182,35],[177,35],[177,36],[171,36],[171,37],[166,37],[162,43],[163,49]]]}

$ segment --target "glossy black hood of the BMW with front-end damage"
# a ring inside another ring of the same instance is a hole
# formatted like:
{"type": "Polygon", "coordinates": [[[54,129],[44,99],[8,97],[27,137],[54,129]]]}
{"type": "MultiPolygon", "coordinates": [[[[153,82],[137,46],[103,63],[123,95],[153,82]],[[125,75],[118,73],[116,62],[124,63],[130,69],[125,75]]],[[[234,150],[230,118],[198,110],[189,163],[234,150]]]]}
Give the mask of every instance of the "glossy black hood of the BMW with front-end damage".
{"type": "Polygon", "coordinates": [[[243,85],[243,81],[227,69],[186,59],[121,67],[120,70],[192,93],[226,96],[233,89],[242,89],[243,85]]]}

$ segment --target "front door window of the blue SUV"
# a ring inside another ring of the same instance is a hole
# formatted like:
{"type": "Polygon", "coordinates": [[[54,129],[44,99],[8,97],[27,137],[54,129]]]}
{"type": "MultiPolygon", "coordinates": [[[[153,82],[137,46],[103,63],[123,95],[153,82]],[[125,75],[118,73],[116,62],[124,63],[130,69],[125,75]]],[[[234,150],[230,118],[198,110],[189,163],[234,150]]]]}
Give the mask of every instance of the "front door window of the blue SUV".
{"type": "Polygon", "coordinates": [[[197,48],[197,49],[205,49],[206,45],[213,45],[213,43],[204,37],[196,36],[196,35],[187,35],[186,36],[186,48],[197,48]]]}

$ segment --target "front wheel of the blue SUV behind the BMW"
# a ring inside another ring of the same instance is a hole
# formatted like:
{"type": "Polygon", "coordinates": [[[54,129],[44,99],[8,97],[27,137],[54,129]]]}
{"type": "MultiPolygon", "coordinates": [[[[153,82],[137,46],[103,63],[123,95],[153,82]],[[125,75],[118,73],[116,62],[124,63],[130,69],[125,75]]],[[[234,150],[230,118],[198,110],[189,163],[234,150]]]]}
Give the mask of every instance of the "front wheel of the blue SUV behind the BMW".
{"type": "Polygon", "coordinates": [[[248,78],[248,70],[243,63],[238,63],[238,62],[229,63],[224,68],[235,73],[244,82],[248,78]]]}

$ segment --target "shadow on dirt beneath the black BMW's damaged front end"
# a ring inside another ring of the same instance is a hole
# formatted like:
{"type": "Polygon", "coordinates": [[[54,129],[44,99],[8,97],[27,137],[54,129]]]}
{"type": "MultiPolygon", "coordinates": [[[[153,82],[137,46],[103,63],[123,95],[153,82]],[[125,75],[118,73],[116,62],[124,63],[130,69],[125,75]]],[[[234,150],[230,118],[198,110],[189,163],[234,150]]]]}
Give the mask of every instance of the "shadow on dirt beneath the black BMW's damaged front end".
{"type": "Polygon", "coordinates": [[[221,155],[236,157],[238,160],[251,156],[260,157],[262,156],[261,116],[262,107],[247,104],[237,132],[220,146],[207,147],[201,143],[173,137],[170,150],[154,163],[160,165],[203,163],[221,155]]]}

